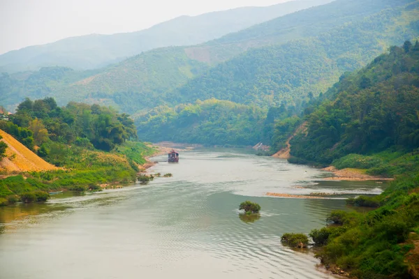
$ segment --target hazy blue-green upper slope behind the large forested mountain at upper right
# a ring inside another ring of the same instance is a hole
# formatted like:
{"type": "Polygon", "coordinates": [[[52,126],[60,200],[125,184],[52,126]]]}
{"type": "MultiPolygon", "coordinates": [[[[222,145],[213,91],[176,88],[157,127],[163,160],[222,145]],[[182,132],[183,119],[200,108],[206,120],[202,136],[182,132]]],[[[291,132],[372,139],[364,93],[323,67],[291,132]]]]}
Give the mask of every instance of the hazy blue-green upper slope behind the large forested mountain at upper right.
{"type": "Polygon", "coordinates": [[[210,63],[226,61],[250,48],[280,45],[290,40],[318,36],[334,27],[355,22],[387,8],[397,8],[409,0],[332,1],[297,13],[229,33],[203,45],[187,47],[189,57],[210,63]]]}

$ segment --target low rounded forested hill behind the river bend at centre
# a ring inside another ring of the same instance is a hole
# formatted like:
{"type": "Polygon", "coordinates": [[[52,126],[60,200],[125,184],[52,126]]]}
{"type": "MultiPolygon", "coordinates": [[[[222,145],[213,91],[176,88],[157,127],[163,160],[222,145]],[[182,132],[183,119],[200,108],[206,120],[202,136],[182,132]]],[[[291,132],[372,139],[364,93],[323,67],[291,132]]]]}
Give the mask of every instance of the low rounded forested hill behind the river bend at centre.
{"type": "Polygon", "coordinates": [[[260,140],[263,117],[263,110],[255,106],[212,99],[156,107],[135,122],[142,140],[253,145],[260,140]]]}

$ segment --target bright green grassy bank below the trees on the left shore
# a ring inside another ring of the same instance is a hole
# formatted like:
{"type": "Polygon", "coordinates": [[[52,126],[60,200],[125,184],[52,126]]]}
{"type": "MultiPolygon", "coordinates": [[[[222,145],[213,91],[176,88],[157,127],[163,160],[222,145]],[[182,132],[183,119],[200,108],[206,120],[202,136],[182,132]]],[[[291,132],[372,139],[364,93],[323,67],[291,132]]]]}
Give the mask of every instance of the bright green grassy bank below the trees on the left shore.
{"type": "Polygon", "coordinates": [[[50,143],[48,149],[50,153],[45,160],[64,169],[25,172],[0,179],[0,204],[8,204],[9,197],[39,190],[48,192],[58,189],[72,190],[75,186],[86,189],[102,183],[133,183],[137,179],[137,164],[145,163],[143,156],[155,152],[155,149],[142,142],[128,142],[122,146],[122,151],[113,153],[57,143],[50,143]]]}

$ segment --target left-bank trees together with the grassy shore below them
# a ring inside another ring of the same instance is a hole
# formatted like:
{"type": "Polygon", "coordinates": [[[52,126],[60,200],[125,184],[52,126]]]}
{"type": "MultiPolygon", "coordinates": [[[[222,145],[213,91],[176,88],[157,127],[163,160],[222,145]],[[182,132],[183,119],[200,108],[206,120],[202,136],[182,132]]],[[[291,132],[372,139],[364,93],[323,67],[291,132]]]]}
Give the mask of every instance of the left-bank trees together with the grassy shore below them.
{"type": "Polygon", "coordinates": [[[19,195],[24,202],[41,201],[41,192],[68,189],[100,190],[98,184],[132,183],[138,165],[155,149],[136,137],[127,114],[98,105],[70,103],[58,107],[52,98],[24,100],[10,121],[0,121],[11,135],[41,144],[37,153],[48,163],[64,167],[50,172],[27,172],[0,179],[0,197],[19,195]],[[25,126],[29,128],[25,128],[25,126]],[[29,133],[29,132],[30,133],[29,133]],[[32,137],[33,135],[33,137],[32,137]],[[100,150],[102,149],[102,151],[100,150]],[[108,152],[104,152],[108,151],[108,152]]]}

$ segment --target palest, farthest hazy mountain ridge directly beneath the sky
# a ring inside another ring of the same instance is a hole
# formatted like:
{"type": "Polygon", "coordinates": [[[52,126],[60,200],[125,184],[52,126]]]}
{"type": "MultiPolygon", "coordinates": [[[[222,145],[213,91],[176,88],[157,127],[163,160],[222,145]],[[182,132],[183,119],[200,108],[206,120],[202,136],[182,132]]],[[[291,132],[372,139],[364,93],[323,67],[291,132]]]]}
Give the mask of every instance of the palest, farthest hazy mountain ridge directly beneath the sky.
{"type": "Polygon", "coordinates": [[[0,70],[13,73],[48,66],[65,66],[77,70],[99,68],[158,47],[204,43],[227,33],[330,1],[332,0],[297,0],[269,7],[235,8],[194,17],[177,17],[132,33],[66,38],[55,43],[24,47],[2,54],[0,70]]]}

